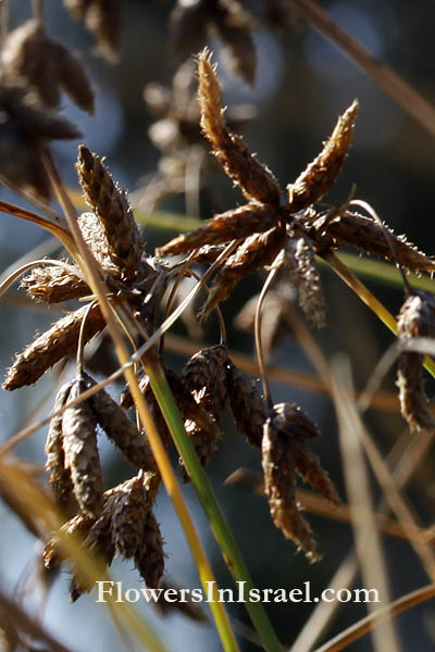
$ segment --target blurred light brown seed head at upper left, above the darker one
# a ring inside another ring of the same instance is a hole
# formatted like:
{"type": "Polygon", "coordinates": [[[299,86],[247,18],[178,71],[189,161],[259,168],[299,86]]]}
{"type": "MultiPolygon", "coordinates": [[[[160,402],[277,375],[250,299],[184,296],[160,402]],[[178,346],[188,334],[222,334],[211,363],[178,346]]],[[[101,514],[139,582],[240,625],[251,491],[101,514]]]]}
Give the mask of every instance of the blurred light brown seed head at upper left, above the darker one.
{"type": "Polygon", "coordinates": [[[9,34],[1,61],[2,78],[23,79],[47,106],[58,106],[63,87],[78,106],[94,112],[94,92],[82,63],[48,38],[39,21],[27,21],[9,34]]]}

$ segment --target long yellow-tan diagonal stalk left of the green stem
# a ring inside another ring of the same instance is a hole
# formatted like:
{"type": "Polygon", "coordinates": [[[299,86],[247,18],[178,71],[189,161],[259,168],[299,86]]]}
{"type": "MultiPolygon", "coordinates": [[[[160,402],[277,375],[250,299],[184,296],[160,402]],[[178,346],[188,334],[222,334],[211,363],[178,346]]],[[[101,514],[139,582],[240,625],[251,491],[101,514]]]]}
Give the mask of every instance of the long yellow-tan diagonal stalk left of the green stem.
{"type": "Polygon", "coordinates": [[[212,612],[216,629],[221,637],[223,648],[227,652],[237,652],[238,645],[234,632],[231,628],[228,617],[226,615],[223,604],[217,600],[219,595],[216,590],[216,581],[211,570],[206,552],[202,548],[201,541],[191,522],[190,514],[187,510],[185,500],[179,489],[179,485],[167,457],[166,450],[162,443],[159,431],[157,430],[156,424],[149,412],[147,402],[137,381],[136,374],[134,373],[134,369],[129,364],[130,356],[128,355],[128,351],[125,348],[122,330],[113,314],[113,310],[107,299],[105,289],[100,277],[100,271],[97,266],[95,259],[90,254],[86,242],[83,239],[82,231],[78,227],[77,217],[75,215],[74,206],[71,203],[69,196],[66,195],[58,168],[55,167],[55,164],[48,152],[44,156],[44,163],[49,178],[52,183],[53,190],[65,212],[71,233],[77,246],[77,250],[87,281],[92,291],[95,292],[96,297],[98,298],[100,310],[107,322],[116,351],[116,355],[122,365],[127,365],[124,368],[125,379],[129,385],[140,422],[147,432],[148,441],[150,443],[152,454],[154,455],[156,462],[161,473],[163,482],[178,514],[179,522],[183,526],[185,536],[189,543],[190,551],[192,553],[195,563],[198,568],[199,577],[206,591],[208,590],[208,587],[210,585],[213,588],[213,601],[210,602],[210,610],[212,612]]]}

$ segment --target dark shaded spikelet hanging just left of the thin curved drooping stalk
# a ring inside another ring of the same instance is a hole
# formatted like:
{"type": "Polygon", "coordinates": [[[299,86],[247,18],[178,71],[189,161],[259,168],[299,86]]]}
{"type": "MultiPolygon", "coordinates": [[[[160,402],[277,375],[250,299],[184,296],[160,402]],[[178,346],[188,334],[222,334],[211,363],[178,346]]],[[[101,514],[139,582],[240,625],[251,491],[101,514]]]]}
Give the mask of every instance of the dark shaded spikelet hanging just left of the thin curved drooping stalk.
{"type": "Polygon", "coordinates": [[[238,432],[261,449],[266,421],[264,402],[256,387],[232,362],[227,367],[228,398],[238,432]]]}

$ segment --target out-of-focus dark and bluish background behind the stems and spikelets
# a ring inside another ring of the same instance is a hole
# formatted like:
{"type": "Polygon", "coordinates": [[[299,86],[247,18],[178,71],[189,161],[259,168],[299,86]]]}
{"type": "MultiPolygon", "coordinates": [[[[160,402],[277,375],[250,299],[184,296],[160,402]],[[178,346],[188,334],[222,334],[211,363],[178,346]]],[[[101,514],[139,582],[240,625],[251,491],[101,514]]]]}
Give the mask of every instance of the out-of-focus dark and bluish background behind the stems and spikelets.
{"type": "MultiPolygon", "coordinates": [[[[359,40],[380,61],[390,65],[427,99],[435,102],[435,41],[433,25],[435,5],[432,2],[415,3],[406,0],[374,0],[365,2],[321,2],[330,15],[353,38],[359,40]]],[[[30,16],[30,2],[10,2],[10,28],[30,16]]],[[[82,24],[71,21],[62,3],[45,2],[50,35],[67,42],[80,53],[92,79],[97,104],[95,116],[88,116],[74,108],[66,98],[62,113],[72,120],[83,133],[84,142],[99,155],[107,156],[109,168],[120,184],[133,193],[133,205],[139,205],[140,190],[152,179],[161,154],[148,136],[156,122],[144,101],[147,84],[158,83],[171,87],[177,62],[169,46],[169,20],[173,9],[169,2],[125,2],[123,46],[120,62],[109,64],[95,52],[92,37],[82,24]]],[[[254,8],[256,9],[256,8],[254,8]]],[[[257,8],[258,9],[258,8],[257,8]]],[[[231,109],[250,104],[256,117],[244,127],[244,137],[251,151],[258,152],[261,162],[276,174],[283,187],[291,183],[321,150],[322,142],[331,134],[337,115],[353,98],[360,101],[353,143],[338,183],[330,193],[331,202],[344,202],[352,184],[357,197],[366,200],[397,234],[406,233],[409,240],[427,254],[435,251],[433,228],[433,188],[435,139],[398,106],[352,61],[326,41],[311,26],[294,17],[294,29],[283,32],[261,27],[256,33],[258,73],[253,88],[240,77],[232,76],[220,65],[224,79],[225,102],[231,109]]],[[[210,41],[219,57],[219,42],[210,41]]],[[[69,186],[77,188],[74,170],[78,142],[55,145],[54,155],[69,186]]],[[[207,147],[207,146],[206,146],[207,147]]],[[[222,171],[211,171],[211,187],[220,198],[219,210],[227,210],[241,201],[237,189],[231,187],[222,171]]],[[[2,190],[1,199],[22,204],[20,198],[2,190]]],[[[24,204],[23,204],[24,205],[24,204]]],[[[165,199],[160,208],[164,211],[186,214],[185,198],[165,199]]],[[[210,217],[213,206],[210,198],[200,195],[200,216],[210,217]]],[[[152,228],[145,230],[149,252],[165,242],[173,233],[152,228]]],[[[2,269],[11,265],[47,235],[36,226],[2,215],[0,230],[0,255],[2,269]]],[[[352,365],[356,386],[364,387],[376,362],[393,341],[389,331],[333,274],[322,268],[322,280],[327,300],[327,325],[313,331],[318,342],[330,358],[337,352],[346,353],[352,365]]],[[[369,287],[393,312],[402,302],[400,289],[376,281],[369,287]]],[[[225,302],[223,312],[228,328],[229,348],[246,355],[253,355],[253,339],[234,326],[234,318],[248,298],[259,291],[260,279],[244,280],[225,302]]],[[[55,309],[22,308],[16,304],[16,289],[2,302],[1,366],[11,363],[13,353],[30,341],[36,330],[42,331],[57,316],[55,309]]],[[[183,324],[176,324],[174,334],[191,336],[183,324]]],[[[216,342],[214,319],[203,334],[202,341],[216,342]]],[[[200,344],[198,344],[199,348],[200,344]]],[[[169,366],[179,369],[183,358],[167,354],[169,366]]],[[[314,374],[297,340],[287,333],[271,355],[270,362],[287,369],[314,374]]],[[[7,440],[27,418],[39,418],[52,406],[55,377],[46,375],[36,387],[25,388],[12,394],[0,394],[2,417],[1,438],[7,440]]],[[[384,390],[394,392],[394,374],[384,383],[384,390]]],[[[426,390],[433,388],[427,384],[426,390]]],[[[112,388],[114,394],[120,388],[112,388]]],[[[323,437],[313,444],[345,496],[341,462],[338,447],[337,424],[330,399],[321,393],[306,392],[297,385],[272,384],[275,402],[298,402],[319,424],[323,437]]],[[[368,426],[380,449],[386,454],[406,430],[397,410],[368,414],[368,426]]],[[[222,422],[224,436],[209,465],[214,491],[228,523],[243,550],[253,580],[259,588],[301,588],[310,580],[313,594],[330,586],[331,579],[352,547],[351,529],[346,524],[307,514],[320,542],[323,559],[309,565],[302,554],[295,553],[291,542],[272,525],[266,501],[246,489],[224,486],[224,480],[238,467],[260,471],[259,455],[237,436],[229,414],[222,422]]],[[[36,432],[16,448],[26,461],[44,463],[46,431],[36,432]]],[[[102,440],[101,440],[102,441],[102,440]]],[[[107,469],[108,486],[128,477],[129,469],[119,455],[102,442],[102,459],[107,469]]],[[[176,463],[176,455],[174,454],[176,463]]],[[[415,511],[424,525],[433,521],[435,482],[434,455],[426,455],[410,485],[415,511]]],[[[380,490],[373,484],[373,493],[380,490]]],[[[189,507],[207,546],[220,585],[231,588],[232,579],[213,541],[208,523],[190,487],[186,488],[189,507]]],[[[166,542],[167,573],[183,587],[199,587],[199,579],[174,510],[162,490],[158,498],[157,516],[166,542]]],[[[40,610],[32,591],[32,569],[40,550],[16,516],[0,505],[0,582],[13,594],[28,585],[25,604],[30,613],[40,610]]],[[[383,538],[388,565],[391,592],[395,598],[426,584],[421,565],[411,547],[399,539],[383,538]]],[[[124,586],[139,587],[139,578],[130,565],[115,563],[115,579],[124,586]]],[[[356,586],[361,586],[361,579],[356,586]]],[[[139,605],[140,606],[140,605],[139,605]]],[[[290,647],[313,609],[312,604],[270,604],[268,612],[278,636],[290,647]]],[[[158,617],[149,607],[141,607],[145,616],[161,634],[170,650],[220,650],[213,628],[189,623],[179,615],[165,619],[158,617]]],[[[248,624],[243,605],[228,605],[231,615],[248,624]]],[[[365,614],[363,605],[346,604],[337,614],[325,640],[365,614]]],[[[397,619],[403,650],[419,652],[435,649],[435,606],[428,602],[403,614],[397,619]]],[[[95,604],[94,595],[84,595],[75,604],[67,601],[67,575],[62,573],[55,581],[44,612],[44,624],[71,650],[84,652],[90,647],[95,652],[121,650],[113,625],[102,605],[95,604]]],[[[240,638],[244,651],[256,650],[253,643],[240,638]]],[[[369,637],[352,643],[351,650],[372,650],[369,637]]]]}

